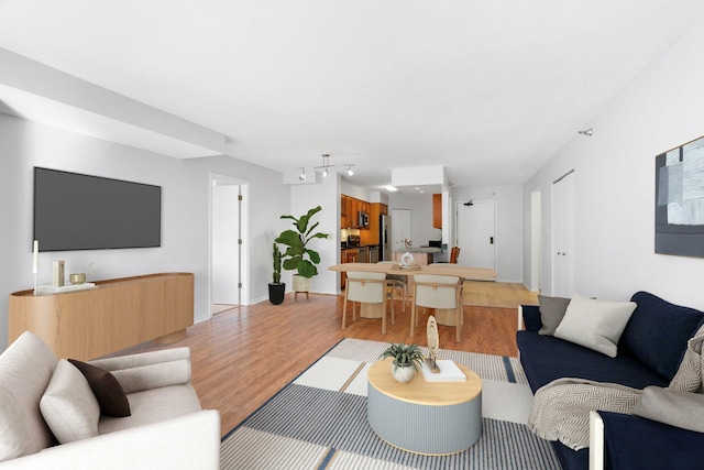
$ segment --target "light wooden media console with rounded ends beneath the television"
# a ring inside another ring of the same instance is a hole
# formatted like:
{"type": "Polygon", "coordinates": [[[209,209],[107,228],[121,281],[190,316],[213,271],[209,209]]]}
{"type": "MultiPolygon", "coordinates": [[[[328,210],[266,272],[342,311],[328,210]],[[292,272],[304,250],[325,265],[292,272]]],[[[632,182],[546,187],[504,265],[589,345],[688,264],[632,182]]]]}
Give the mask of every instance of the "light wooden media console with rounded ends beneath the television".
{"type": "Polygon", "coordinates": [[[30,330],[58,358],[89,360],[148,340],[186,338],[194,324],[193,273],[98,281],[53,295],[10,294],[8,343],[30,330]]]}

